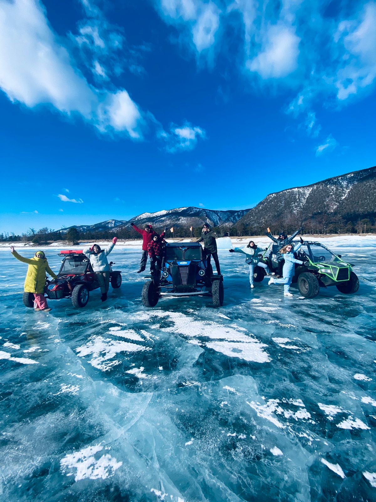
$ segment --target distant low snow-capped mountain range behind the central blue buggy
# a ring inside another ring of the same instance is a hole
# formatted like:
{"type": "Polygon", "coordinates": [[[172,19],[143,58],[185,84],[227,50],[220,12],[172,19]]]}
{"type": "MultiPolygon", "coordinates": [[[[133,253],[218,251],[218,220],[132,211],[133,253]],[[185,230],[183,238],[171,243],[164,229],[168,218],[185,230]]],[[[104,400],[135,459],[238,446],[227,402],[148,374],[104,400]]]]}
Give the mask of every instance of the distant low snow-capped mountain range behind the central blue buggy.
{"type": "MultiPolygon", "coordinates": [[[[213,226],[223,224],[232,225],[247,214],[248,211],[249,209],[241,209],[239,211],[215,211],[193,206],[177,207],[175,209],[169,209],[168,211],[162,210],[155,213],[142,213],[128,221],[111,219],[93,225],[72,225],[72,227],[77,228],[79,232],[103,232],[112,228],[119,230],[122,227],[129,227],[131,221],[137,226],[151,223],[156,228],[171,225],[175,227],[190,227],[193,225],[195,227],[205,222],[213,226]]],[[[69,228],[72,227],[62,228],[59,231],[61,233],[66,233],[69,228]]]]}

